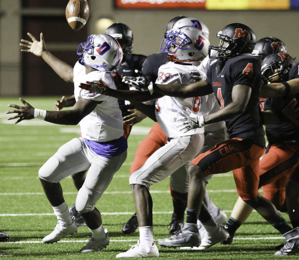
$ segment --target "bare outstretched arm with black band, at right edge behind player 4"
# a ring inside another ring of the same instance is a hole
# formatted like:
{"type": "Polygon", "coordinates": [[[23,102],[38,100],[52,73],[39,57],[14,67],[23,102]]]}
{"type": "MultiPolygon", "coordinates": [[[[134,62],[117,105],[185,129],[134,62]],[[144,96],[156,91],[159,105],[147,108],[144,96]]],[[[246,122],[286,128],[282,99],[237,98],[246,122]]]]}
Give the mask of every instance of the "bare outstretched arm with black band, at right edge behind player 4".
{"type": "Polygon", "coordinates": [[[288,94],[299,93],[299,78],[286,81],[289,84],[289,90],[283,83],[270,83],[261,86],[261,97],[283,97],[288,94]]]}

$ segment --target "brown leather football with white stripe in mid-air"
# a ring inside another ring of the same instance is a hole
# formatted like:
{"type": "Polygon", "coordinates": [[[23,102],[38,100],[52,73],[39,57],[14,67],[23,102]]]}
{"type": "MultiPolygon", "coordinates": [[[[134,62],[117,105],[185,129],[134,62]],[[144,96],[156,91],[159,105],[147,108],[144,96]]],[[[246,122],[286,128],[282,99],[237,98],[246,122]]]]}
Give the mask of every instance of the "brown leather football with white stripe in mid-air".
{"type": "Polygon", "coordinates": [[[89,6],[86,0],[70,0],[65,9],[68,24],[74,30],[81,29],[89,17],[89,6]]]}

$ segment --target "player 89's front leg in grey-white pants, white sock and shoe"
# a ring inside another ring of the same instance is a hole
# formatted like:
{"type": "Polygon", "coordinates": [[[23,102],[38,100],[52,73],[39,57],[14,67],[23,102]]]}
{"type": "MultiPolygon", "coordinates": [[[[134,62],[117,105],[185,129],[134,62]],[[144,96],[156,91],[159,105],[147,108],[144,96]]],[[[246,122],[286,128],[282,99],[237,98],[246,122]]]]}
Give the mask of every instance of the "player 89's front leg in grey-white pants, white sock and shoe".
{"type": "MultiPolygon", "coordinates": [[[[140,239],[137,245],[125,253],[116,257],[140,257],[148,247],[158,256],[158,249],[153,244],[152,231],[152,200],[149,194],[149,186],[171,175],[190,158],[196,156],[204,141],[203,134],[171,139],[165,146],[158,149],[141,168],[130,176],[130,185],[133,192],[134,203],[139,223],[140,239]]],[[[147,254],[147,257],[150,255],[147,254]]],[[[151,255],[153,256],[153,255],[151,255]]]]}

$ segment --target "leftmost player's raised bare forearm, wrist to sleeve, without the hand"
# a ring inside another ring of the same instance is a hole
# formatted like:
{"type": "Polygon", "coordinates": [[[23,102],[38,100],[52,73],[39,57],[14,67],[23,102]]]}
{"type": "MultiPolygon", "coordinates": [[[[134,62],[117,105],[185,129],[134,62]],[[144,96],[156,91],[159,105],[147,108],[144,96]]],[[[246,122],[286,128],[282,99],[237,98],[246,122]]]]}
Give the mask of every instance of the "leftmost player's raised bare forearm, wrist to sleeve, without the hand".
{"type": "Polygon", "coordinates": [[[43,51],[42,59],[66,82],[73,82],[73,67],[55,57],[49,51],[43,51]]]}

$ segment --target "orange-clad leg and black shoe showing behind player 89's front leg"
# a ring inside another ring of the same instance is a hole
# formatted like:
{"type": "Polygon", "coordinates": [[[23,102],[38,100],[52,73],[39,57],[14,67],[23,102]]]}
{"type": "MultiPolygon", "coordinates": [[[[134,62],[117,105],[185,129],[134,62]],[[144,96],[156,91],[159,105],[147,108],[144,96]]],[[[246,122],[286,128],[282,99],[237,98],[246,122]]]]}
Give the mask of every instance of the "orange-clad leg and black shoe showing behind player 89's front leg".
{"type": "MultiPolygon", "coordinates": [[[[130,175],[135,170],[139,169],[145,161],[160,147],[167,143],[167,136],[165,136],[158,123],[155,123],[149,131],[149,135],[144,138],[139,144],[132,166],[130,167],[130,175]]],[[[131,234],[135,232],[138,227],[138,220],[136,213],[123,225],[122,232],[131,234]]]]}

